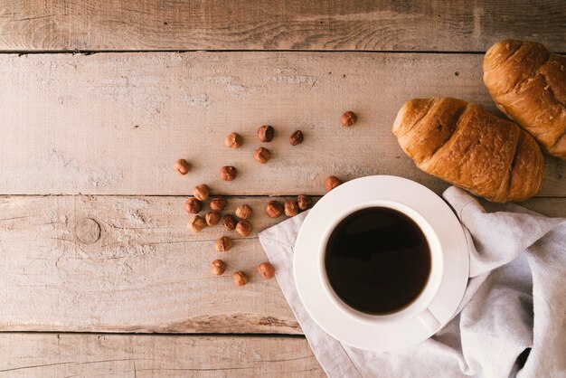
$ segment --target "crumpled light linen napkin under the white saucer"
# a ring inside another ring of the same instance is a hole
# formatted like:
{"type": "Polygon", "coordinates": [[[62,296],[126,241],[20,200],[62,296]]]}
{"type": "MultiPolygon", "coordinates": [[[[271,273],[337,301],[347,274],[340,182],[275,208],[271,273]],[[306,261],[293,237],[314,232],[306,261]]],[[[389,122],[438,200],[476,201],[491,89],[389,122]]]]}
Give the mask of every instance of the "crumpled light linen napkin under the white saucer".
{"type": "Polygon", "coordinates": [[[566,219],[514,204],[443,194],[465,226],[470,279],[457,315],[428,340],[368,352],[327,335],[293,279],[293,247],[307,213],[259,233],[277,279],[330,377],[566,377],[566,219]]]}

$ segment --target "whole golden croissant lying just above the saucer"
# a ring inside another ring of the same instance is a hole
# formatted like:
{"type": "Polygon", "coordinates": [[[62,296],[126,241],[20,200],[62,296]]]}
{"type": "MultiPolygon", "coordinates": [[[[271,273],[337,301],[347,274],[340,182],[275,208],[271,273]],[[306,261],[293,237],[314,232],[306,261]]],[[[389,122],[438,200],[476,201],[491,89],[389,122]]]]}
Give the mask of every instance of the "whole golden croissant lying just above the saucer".
{"type": "Polygon", "coordinates": [[[541,187],[544,159],[533,137],[462,99],[411,99],[392,131],[421,170],[489,201],[523,201],[541,187]]]}

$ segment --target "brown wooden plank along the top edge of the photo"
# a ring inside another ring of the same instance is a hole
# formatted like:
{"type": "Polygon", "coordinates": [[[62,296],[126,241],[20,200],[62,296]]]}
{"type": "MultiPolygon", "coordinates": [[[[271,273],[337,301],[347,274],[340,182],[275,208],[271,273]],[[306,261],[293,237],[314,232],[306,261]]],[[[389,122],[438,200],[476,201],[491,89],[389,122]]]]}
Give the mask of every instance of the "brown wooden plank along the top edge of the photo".
{"type": "Polygon", "coordinates": [[[162,1],[0,4],[0,49],[486,51],[533,39],[566,50],[561,0],[162,1]]]}

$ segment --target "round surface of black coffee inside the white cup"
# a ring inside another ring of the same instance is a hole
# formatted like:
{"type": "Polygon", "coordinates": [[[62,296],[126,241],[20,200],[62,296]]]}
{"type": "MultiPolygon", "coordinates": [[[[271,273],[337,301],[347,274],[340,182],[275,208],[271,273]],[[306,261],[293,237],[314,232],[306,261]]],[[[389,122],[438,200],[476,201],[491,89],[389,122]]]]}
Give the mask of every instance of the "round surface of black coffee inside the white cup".
{"type": "Polygon", "coordinates": [[[429,243],[404,213],[368,207],[346,216],[325,250],[330,286],[348,306],[385,315],[419,297],[430,274],[429,243]]]}

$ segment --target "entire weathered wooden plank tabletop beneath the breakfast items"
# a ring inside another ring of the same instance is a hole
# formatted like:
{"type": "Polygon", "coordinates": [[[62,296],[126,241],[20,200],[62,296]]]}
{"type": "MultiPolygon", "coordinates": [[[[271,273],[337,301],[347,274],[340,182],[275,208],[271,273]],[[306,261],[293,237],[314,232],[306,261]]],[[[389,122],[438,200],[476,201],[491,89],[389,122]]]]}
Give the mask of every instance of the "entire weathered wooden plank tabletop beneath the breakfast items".
{"type": "MultiPolygon", "coordinates": [[[[324,376],[257,232],[269,196],[327,175],[401,175],[441,193],[391,135],[401,104],[452,96],[495,111],[483,52],[513,37],[566,52],[566,3],[71,1],[0,4],[0,376],[324,376]],[[340,115],[354,110],[354,128],[340,115]],[[272,124],[267,165],[253,161],[272,124]],[[305,142],[289,146],[300,128],[305,142]],[[239,150],[223,146],[237,131],[239,150]],[[184,157],[189,175],[172,165],[184,157]],[[222,165],[238,167],[230,183],[222,165]],[[249,203],[249,237],[187,232],[195,184],[249,203]]],[[[524,205],[566,213],[546,157],[524,205]]]]}

